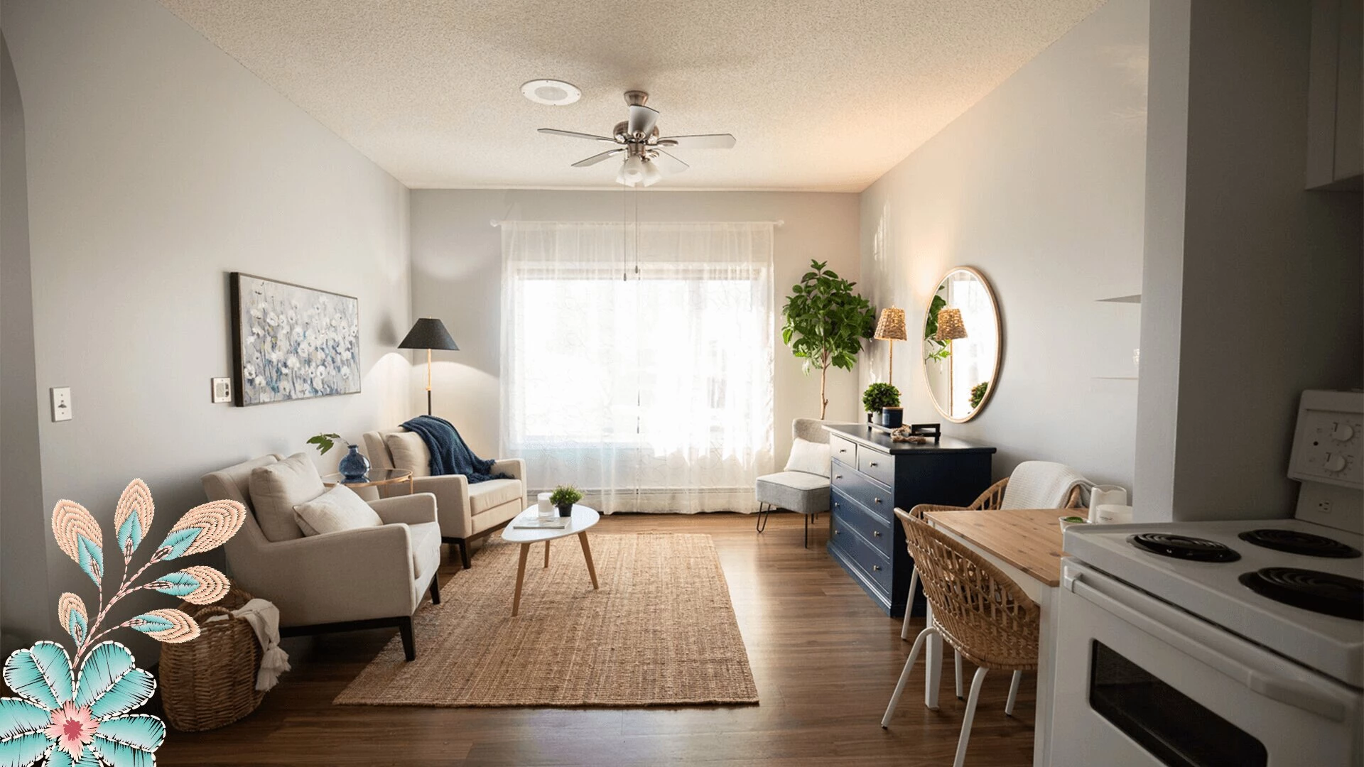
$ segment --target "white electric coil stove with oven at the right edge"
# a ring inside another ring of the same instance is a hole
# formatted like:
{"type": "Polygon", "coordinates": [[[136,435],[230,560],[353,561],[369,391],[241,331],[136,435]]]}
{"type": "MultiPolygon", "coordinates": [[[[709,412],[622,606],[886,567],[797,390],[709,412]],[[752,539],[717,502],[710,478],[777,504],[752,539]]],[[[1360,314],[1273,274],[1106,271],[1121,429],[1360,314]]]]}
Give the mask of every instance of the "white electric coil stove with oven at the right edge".
{"type": "Polygon", "coordinates": [[[1361,411],[1304,392],[1293,519],[1067,530],[1052,764],[1364,764],[1361,411]]]}

